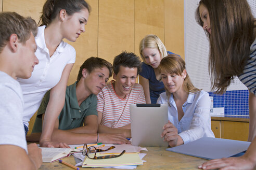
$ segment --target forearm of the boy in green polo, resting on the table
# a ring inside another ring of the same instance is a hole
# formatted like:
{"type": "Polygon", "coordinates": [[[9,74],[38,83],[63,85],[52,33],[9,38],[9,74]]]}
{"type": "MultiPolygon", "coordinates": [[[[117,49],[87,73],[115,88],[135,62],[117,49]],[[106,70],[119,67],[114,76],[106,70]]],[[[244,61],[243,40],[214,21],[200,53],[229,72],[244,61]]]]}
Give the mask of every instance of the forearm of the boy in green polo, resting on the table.
{"type": "Polygon", "coordinates": [[[52,141],[57,143],[66,143],[68,145],[78,145],[86,143],[96,143],[97,133],[73,133],[55,129],[52,135],[52,141]]]}

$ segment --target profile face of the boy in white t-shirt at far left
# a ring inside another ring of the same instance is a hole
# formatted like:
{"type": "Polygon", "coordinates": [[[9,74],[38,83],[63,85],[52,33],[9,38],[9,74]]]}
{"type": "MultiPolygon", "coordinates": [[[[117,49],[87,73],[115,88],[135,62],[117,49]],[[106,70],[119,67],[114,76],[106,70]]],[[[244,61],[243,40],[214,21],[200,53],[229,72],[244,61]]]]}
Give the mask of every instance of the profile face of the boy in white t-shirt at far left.
{"type": "Polygon", "coordinates": [[[20,65],[17,70],[16,77],[19,78],[30,78],[34,70],[34,66],[39,63],[39,60],[35,56],[36,44],[35,38],[32,32],[30,33],[30,38],[25,42],[25,44],[19,43],[19,57],[18,64],[20,65]]]}

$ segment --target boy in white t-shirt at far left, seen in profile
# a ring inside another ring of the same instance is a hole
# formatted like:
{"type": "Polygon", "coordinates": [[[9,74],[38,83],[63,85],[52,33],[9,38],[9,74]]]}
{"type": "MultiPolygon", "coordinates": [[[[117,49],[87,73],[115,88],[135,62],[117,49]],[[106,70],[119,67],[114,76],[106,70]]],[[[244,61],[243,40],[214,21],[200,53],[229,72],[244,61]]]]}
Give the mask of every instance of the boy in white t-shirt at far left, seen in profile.
{"type": "Polygon", "coordinates": [[[0,165],[1,169],[37,169],[41,149],[27,146],[22,123],[23,96],[17,77],[29,78],[38,64],[37,27],[30,17],[0,13],[0,165]]]}

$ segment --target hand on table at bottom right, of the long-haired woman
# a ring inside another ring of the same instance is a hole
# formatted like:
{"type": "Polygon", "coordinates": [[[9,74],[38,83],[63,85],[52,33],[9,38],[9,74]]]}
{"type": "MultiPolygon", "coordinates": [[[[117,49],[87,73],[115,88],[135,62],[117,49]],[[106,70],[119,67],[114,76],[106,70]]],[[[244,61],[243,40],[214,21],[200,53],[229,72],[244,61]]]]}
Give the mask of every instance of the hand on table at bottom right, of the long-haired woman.
{"type": "Polygon", "coordinates": [[[248,158],[241,157],[230,157],[215,159],[211,161],[204,162],[202,165],[198,166],[200,169],[253,169],[253,162],[248,158]]]}

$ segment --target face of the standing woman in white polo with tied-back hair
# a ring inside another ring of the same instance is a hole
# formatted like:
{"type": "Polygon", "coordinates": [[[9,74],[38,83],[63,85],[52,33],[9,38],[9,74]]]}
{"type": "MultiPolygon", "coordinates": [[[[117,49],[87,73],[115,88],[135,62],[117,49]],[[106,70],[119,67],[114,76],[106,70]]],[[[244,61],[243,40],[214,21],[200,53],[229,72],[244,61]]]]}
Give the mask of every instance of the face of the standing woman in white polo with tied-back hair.
{"type": "Polygon", "coordinates": [[[73,13],[71,16],[67,16],[62,20],[62,35],[63,38],[74,42],[80,36],[80,34],[85,32],[85,25],[87,24],[89,18],[88,9],[83,8],[79,12],[73,13]]]}

